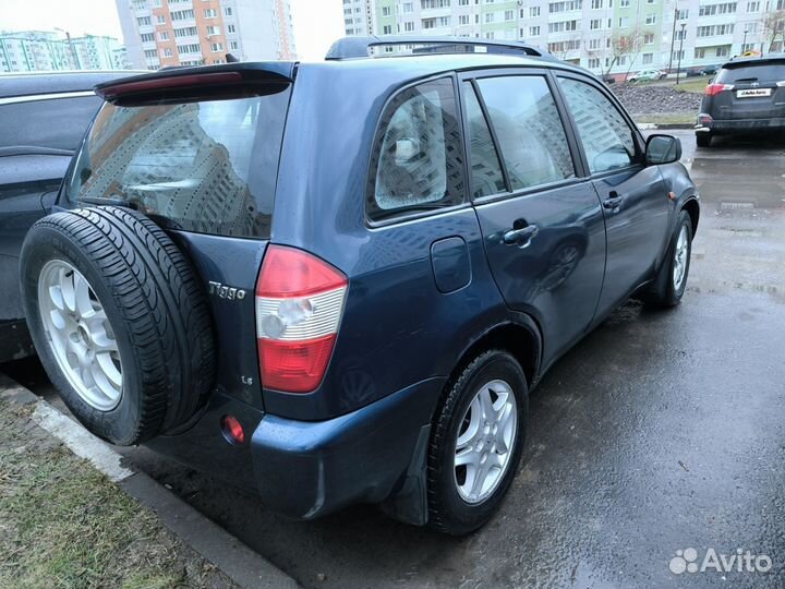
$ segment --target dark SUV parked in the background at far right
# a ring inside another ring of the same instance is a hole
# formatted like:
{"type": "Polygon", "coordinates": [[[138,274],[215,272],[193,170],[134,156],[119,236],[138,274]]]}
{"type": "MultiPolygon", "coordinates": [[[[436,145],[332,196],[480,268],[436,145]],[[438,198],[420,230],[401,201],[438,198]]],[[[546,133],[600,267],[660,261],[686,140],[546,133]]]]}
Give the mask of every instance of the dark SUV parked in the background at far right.
{"type": "Polygon", "coordinates": [[[696,140],[709,147],[715,135],[785,130],[785,55],[734,59],[705,88],[696,140]]]}

